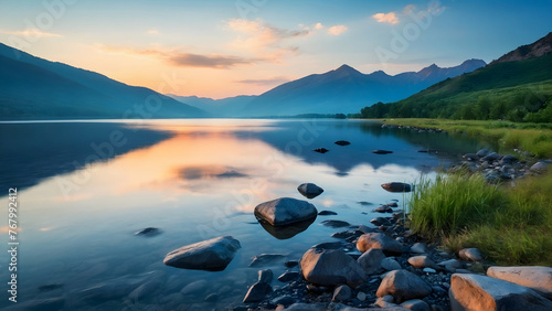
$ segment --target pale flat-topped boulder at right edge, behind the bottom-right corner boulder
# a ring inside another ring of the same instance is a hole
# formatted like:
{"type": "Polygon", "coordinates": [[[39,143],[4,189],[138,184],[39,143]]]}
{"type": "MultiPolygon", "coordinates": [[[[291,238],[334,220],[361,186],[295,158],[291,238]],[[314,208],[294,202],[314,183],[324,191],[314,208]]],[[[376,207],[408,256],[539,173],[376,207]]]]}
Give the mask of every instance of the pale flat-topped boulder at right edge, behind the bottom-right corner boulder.
{"type": "Polygon", "coordinates": [[[552,268],[528,267],[490,267],[487,276],[528,287],[552,300],[552,268]]]}

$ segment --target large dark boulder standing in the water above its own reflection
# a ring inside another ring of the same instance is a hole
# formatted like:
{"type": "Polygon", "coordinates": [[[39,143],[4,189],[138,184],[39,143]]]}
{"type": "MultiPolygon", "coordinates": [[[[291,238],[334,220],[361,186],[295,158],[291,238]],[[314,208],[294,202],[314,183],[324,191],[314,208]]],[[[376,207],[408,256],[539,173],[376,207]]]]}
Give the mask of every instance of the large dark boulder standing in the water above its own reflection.
{"type": "Polygon", "coordinates": [[[286,226],[294,223],[316,218],[318,211],[315,205],[291,197],[282,197],[255,207],[255,216],[272,226],[286,226]]]}

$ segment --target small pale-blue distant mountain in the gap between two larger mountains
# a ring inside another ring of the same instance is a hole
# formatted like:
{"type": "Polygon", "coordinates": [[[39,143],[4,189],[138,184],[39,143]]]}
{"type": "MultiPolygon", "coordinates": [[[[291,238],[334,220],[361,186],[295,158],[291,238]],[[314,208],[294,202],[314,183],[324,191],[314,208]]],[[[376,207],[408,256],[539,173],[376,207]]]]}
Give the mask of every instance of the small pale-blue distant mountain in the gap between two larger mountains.
{"type": "Polygon", "coordinates": [[[247,104],[250,104],[253,99],[255,99],[255,97],[257,97],[255,95],[240,95],[222,99],[212,99],[198,96],[178,96],[172,94],[166,95],[195,108],[203,109],[217,117],[237,116],[237,114],[242,111],[247,106],[247,104]]]}

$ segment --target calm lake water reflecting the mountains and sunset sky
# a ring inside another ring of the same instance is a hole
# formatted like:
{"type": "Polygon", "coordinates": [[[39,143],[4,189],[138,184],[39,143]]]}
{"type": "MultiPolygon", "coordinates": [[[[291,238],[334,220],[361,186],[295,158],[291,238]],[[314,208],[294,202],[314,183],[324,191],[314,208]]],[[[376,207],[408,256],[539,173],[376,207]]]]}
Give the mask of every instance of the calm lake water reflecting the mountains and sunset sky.
{"type": "MultiPolygon", "coordinates": [[[[254,256],[298,260],[310,246],[335,242],[330,235],[347,229],[320,222],[370,225],[381,216],[371,212],[378,204],[403,202],[402,194],[385,192],[382,183],[432,178],[436,168],[479,147],[446,133],[381,129],[355,120],[19,122],[0,124],[0,137],[6,249],[8,189],[18,187],[18,305],[62,298],[64,310],[225,310],[240,304],[257,279],[259,268],[248,267],[254,256]],[[351,144],[340,147],[337,140],[351,144]],[[330,151],[312,151],[322,147],[330,151]],[[394,153],[371,153],[374,149],[394,153]],[[437,153],[417,152],[428,149],[437,153]],[[304,182],[325,189],[310,200],[318,211],[338,215],[318,216],[287,239],[273,236],[256,222],[254,207],[283,196],[307,200],[297,192],[304,182]],[[134,235],[146,227],[161,234],[134,235]],[[224,271],[162,262],[178,247],[225,235],[242,248],[224,271]],[[205,302],[211,293],[217,293],[216,301],[205,302]]],[[[4,289],[9,260],[2,251],[0,308],[12,304],[4,289]]],[[[282,261],[263,268],[272,268],[275,277],[285,271],[282,261]]]]}

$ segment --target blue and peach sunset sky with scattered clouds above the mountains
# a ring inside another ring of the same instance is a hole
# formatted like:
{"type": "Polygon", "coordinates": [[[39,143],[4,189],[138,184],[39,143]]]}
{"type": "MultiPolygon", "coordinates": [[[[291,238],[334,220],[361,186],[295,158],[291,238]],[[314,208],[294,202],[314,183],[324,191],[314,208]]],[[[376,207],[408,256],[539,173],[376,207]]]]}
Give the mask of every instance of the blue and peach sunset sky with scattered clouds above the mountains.
{"type": "Polygon", "coordinates": [[[551,0],[0,0],[0,43],[163,94],[258,95],[348,64],[490,62],[552,31],[551,0]]]}

